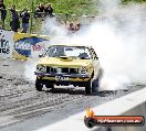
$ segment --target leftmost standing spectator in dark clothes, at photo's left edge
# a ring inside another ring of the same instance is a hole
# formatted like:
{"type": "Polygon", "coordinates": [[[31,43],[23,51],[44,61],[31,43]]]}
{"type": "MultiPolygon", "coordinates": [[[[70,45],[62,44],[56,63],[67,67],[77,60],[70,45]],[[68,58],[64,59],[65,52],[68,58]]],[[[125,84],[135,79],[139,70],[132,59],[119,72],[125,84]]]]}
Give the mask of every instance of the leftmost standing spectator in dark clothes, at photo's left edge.
{"type": "Polygon", "coordinates": [[[0,12],[1,12],[2,29],[4,29],[7,10],[6,10],[6,6],[3,4],[3,0],[0,0],[0,12]]]}

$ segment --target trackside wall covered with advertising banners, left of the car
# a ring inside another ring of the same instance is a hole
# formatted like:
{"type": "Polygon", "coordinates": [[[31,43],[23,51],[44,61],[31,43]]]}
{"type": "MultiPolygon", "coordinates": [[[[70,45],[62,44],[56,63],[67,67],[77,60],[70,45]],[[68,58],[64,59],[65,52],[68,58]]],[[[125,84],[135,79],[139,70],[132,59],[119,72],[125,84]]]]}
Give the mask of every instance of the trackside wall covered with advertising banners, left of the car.
{"type": "Polygon", "coordinates": [[[14,33],[0,30],[0,58],[27,61],[35,57],[50,44],[51,36],[14,33]]]}

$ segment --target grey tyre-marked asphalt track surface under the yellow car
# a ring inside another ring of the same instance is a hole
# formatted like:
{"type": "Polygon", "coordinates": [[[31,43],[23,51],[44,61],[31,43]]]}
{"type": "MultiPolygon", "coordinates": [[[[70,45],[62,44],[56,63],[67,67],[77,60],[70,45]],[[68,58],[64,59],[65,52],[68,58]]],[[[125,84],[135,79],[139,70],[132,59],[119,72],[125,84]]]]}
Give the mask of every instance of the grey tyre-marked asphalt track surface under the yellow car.
{"type": "Polygon", "coordinates": [[[32,131],[84,111],[88,106],[94,107],[145,87],[135,84],[125,90],[105,90],[92,96],[86,96],[84,88],[73,87],[36,91],[34,81],[24,77],[24,65],[25,62],[20,61],[0,61],[0,131],[32,131]],[[35,119],[40,119],[40,124],[35,124],[35,119]],[[25,127],[30,121],[33,123],[25,127]]]}

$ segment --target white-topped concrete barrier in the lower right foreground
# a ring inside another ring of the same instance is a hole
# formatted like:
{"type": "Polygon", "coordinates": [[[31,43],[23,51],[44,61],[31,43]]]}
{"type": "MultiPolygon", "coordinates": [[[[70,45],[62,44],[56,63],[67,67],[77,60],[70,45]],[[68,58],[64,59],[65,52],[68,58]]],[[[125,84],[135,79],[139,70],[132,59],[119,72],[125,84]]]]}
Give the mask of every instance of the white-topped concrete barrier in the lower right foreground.
{"type": "MultiPolygon", "coordinates": [[[[146,117],[146,88],[93,108],[96,116],[144,116],[146,117]]],[[[146,131],[144,127],[95,127],[87,129],[83,118],[85,112],[41,128],[36,131],[146,131]]]]}

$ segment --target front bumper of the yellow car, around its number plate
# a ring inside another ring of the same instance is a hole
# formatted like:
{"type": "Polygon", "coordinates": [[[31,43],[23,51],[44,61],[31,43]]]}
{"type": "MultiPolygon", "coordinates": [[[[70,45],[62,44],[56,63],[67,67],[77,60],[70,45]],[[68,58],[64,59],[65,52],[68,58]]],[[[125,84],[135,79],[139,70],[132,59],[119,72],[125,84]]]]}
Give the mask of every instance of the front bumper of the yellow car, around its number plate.
{"type": "Polygon", "coordinates": [[[52,81],[64,81],[64,80],[56,80],[56,76],[60,77],[67,77],[69,79],[66,81],[74,83],[74,81],[87,81],[90,79],[88,75],[81,75],[81,74],[49,74],[49,73],[38,73],[34,72],[36,77],[42,80],[52,80],[52,81]]]}

